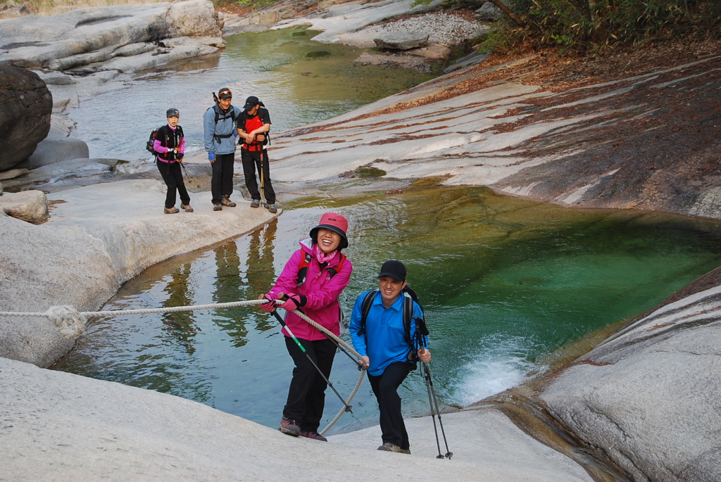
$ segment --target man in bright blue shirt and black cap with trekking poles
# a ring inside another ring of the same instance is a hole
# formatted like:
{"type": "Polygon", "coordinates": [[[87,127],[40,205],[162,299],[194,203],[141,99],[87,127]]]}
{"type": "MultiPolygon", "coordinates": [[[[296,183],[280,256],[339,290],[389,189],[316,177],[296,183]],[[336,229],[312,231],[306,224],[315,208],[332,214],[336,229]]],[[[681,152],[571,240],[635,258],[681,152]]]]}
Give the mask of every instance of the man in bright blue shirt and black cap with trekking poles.
{"type": "Polygon", "coordinates": [[[383,445],[378,450],[410,454],[398,387],[410,371],[415,370],[415,354],[421,362],[428,363],[430,351],[426,336],[422,336],[422,346],[417,341],[415,318],[423,318],[423,312],[415,301],[412,302],[408,332],[404,327],[404,298],[410,296],[403,291],[408,284],[406,274],[402,262],[385,262],[378,275],[379,289],[373,296],[365,323],[363,300],[370,291],[355,300],[349,331],[355,351],[361,354],[368,367],[368,381],[381,411],[383,445]]]}

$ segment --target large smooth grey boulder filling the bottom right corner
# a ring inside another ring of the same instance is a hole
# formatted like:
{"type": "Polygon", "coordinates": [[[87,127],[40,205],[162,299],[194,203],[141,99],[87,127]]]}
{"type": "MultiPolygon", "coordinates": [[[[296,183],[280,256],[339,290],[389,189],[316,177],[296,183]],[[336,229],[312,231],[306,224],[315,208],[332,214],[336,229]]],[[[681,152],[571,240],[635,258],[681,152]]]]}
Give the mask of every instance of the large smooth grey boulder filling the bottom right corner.
{"type": "Polygon", "coordinates": [[[721,481],[721,269],[562,372],[541,401],[633,481],[721,481]]]}

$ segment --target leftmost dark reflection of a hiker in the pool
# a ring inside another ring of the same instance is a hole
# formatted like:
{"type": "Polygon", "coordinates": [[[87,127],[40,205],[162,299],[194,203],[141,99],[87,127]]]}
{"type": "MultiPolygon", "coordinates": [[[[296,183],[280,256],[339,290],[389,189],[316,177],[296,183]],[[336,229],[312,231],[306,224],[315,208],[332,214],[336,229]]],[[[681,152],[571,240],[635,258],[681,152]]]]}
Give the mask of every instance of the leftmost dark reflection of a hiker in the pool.
{"type": "MultiPolygon", "coordinates": [[[[190,277],[190,263],[182,264],[176,271],[170,275],[171,281],[165,286],[164,292],[168,293],[168,298],[163,302],[164,308],[174,306],[192,305],[192,300],[188,295],[187,281],[190,277]]],[[[188,354],[195,352],[193,347],[193,338],[198,331],[195,326],[195,318],[192,311],[178,311],[174,313],[163,313],[164,331],[167,331],[177,342],[185,347],[188,354]]]]}

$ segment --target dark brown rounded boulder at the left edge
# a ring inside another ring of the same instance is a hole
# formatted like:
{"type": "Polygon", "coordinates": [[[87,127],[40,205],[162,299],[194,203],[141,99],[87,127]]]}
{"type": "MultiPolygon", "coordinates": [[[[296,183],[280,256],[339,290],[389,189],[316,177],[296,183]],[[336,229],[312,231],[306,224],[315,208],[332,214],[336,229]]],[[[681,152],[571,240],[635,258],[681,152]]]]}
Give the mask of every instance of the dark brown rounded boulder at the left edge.
{"type": "Polygon", "coordinates": [[[0,63],[0,171],[27,159],[50,131],[53,96],[36,73],[0,63]]]}

